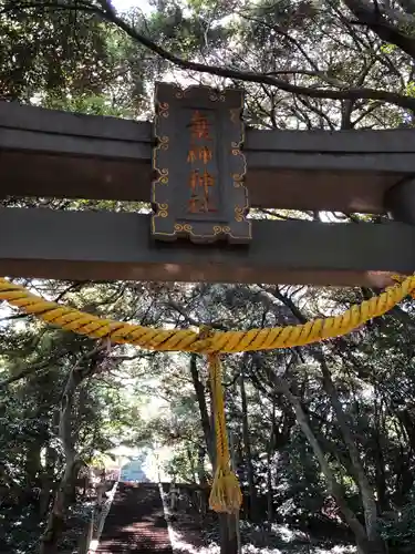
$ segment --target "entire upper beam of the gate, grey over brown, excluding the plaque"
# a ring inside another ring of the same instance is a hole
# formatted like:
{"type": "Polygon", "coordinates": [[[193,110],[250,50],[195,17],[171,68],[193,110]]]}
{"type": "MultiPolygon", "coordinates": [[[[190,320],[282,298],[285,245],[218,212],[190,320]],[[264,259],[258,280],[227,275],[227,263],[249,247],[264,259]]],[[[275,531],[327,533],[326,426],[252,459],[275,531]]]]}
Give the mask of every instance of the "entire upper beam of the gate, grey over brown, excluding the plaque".
{"type": "MultiPolygon", "coordinates": [[[[415,131],[247,131],[253,207],[384,213],[415,131]]],[[[0,102],[0,195],[149,201],[152,125],[0,102]],[[58,178],[56,178],[58,177],[58,178]]]]}

